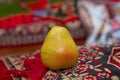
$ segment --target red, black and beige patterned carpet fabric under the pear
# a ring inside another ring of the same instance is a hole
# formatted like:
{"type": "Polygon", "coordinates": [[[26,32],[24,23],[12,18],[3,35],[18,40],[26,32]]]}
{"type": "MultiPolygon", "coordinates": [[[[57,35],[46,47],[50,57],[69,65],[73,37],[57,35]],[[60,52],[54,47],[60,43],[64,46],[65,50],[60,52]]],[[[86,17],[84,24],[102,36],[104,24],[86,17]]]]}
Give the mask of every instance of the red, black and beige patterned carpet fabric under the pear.
{"type": "Polygon", "coordinates": [[[73,68],[52,71],[39,52],[0,61],[0,80],[120,80],[120,46],[81,46],[73,68]],[[5,64],[5,65],[4,65],[5,64]]]}

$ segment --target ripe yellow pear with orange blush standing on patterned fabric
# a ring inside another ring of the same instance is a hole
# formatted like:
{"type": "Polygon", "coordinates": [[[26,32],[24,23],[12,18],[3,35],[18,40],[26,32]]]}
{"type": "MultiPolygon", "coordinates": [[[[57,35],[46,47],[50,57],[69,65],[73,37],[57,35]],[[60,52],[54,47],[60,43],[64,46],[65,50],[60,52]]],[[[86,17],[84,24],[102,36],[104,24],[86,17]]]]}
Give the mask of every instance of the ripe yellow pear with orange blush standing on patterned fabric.
{"type": "Polygon", "coordinates": [[[43,64],[52,70],[66,69],[75,65],[77,57],[78,49],[68,30],[52,27],[41,47],[43,64]]]}

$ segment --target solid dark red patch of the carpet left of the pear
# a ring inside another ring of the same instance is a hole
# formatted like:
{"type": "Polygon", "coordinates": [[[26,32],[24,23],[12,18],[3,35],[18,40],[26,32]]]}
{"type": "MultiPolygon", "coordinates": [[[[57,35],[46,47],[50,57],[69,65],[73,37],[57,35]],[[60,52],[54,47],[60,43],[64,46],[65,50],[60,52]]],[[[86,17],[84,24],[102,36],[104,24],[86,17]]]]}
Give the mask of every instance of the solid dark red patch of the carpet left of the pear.
{"type": "Polygon", "coordinates": [[[47,72],[47,68],[41,61],[40,54],[34,55],[35,58],[29,59],[28,57],[22,59],[24,70],[11,69],[8,70],[3,61],[0,60],[0,80],[14,80],[12,77],[25,77],[27,80],[41,80],[47,72]]]}

